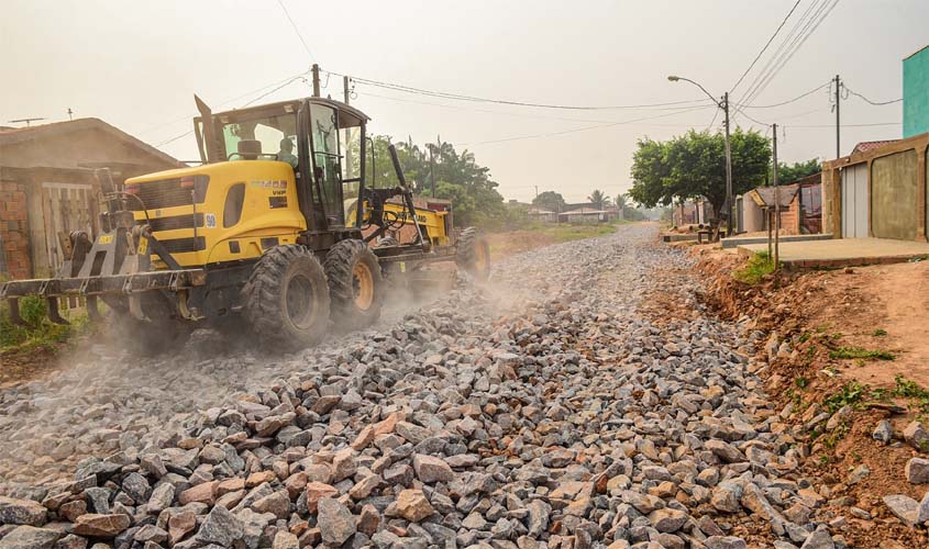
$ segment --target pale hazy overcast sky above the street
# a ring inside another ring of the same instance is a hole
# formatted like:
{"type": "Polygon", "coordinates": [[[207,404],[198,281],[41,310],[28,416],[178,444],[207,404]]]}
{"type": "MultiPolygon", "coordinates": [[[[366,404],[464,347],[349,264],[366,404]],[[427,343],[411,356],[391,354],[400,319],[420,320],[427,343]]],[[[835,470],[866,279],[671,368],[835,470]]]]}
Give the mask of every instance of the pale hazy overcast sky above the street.
{"type": "MultiPolygon", "coordinates": [[[[307,1],[128,2],[0,0],[0,123],[98,116],[159,145],[191,127],[192,96],[236,108],[308,70],[482,98],[565,105],[627,105],[701,99],[676,74],[714,94],[731,89],[795,0],[732,1],[307,1]]],[[[808,8],[801,0],[755,76],[808,8]]],[[[811,13],[811,12],[810,12],[811,13]]],[[[929,44],[927,0],[839,0],[754,105],[793,99],[839,74],[875,101],[902,97],[902,59],[929,44]]],[[[323,77],[323,94],[342,81],[323,77]]],[[[307,96],[297,79],[262,101],[307,96]]],[[[565,111],[461,102],[356,85],[353,104],[371,131],[423,143],[440,137],[490,168],[508,199],[557,190],[583,201],[631,184],[635,139],[706,128],[715,109],[565,111]],[[662,115],[654,119],[653,116],[662,115]],[[652,117],[628,124],[613,124],[652,117]],[[590,126],[601,126],[590,128],[590,126]],[[535,137],[530,137],[535,136],[535,137]],[[526,137],[526,138],[517,138],[526,137]],[[517,139],[512,139],[517,138],[517,139]],[[509,139],[509,141],[502,141],[509,139]]],[[[749,109],[785,126],[787,161],[833,158],[828,90],[776,109],[749,109]],[[818,126],[818,127],[812,127],[818,126]]],[[[688,107],[688,105],[685,105],[688,107]]],[[[900,103],[841,105],[842,154],[859,141],[900,136],[900,103]]],[[[721,115],[715,119],[719,127],[721,115]]],[[[734,124],[759,126],[744,116],[734,124]]],[[[197,158],[192,135],[161,148],[197,158]]]]}

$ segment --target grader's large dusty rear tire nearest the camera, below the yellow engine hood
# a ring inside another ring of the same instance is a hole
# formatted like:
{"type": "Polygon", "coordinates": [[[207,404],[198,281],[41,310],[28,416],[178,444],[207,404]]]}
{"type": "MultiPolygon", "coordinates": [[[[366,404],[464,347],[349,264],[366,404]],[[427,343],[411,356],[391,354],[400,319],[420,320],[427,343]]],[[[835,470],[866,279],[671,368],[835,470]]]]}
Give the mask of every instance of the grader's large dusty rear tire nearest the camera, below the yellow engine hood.
{"type": "Polygon", "coordinates": [[[319,343],[329,326],[329,288],[312,251],[297,244],[265,251],[242,289],[245,321],[269,349],[319,343]]]}

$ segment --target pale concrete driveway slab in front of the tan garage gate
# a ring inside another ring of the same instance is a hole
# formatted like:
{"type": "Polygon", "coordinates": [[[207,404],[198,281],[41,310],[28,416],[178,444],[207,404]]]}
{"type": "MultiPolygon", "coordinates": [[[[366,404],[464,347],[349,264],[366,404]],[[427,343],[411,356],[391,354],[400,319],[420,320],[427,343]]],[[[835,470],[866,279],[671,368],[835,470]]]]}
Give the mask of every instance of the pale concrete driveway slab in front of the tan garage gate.
{"type": "MultiPolygon", "coordinates": [[[[739,246],[739,254],[767,251],[767,244],[739,246]]],[[[898,264],[929,258],[929,243],[889,238],[837,238],[832,240],[782,242],[781,261],[785,267],[847,267],[898,264]]]]}

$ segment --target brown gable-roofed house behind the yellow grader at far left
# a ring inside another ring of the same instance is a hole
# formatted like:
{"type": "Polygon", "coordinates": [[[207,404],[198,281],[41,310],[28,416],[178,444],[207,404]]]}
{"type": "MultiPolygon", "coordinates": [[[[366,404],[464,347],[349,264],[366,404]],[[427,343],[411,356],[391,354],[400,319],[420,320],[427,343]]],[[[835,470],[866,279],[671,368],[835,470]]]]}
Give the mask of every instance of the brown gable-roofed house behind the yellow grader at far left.
{"type": "Polygon", "coordinates": [[[175,158],[98,119],[0,126],[0,274],[51,276],[71,231],[99,227],[95,168],[113,179],[177,168],[175,158]]]}

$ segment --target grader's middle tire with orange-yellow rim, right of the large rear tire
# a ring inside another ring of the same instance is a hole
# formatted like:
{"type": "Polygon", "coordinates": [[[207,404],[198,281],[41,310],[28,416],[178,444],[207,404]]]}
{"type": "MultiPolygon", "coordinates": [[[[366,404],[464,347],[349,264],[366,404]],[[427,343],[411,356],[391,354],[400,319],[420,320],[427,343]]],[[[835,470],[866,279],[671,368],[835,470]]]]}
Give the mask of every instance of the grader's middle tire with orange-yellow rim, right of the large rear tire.
{"type": "Polygon", "coordinates": [[[384,278],[377,256],[362,240],[341,240],[323,261],[332,296],[332,320],[344,328],[364,328],[380,317],[384,278]]]}

